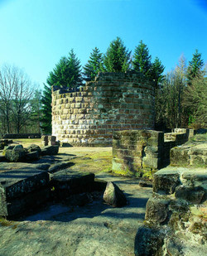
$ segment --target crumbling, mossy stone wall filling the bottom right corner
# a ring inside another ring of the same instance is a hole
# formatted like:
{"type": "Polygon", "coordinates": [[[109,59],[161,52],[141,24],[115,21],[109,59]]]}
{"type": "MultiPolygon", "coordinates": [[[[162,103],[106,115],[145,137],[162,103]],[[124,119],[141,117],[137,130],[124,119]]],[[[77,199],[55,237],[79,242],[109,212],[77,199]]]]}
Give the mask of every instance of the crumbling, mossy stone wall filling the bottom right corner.
{"type": "Polygon", "coordinates": [[[206,255],[206,181],[206,169],[156,172],[145,224],[137,230],[136,256],[206,255]]]}

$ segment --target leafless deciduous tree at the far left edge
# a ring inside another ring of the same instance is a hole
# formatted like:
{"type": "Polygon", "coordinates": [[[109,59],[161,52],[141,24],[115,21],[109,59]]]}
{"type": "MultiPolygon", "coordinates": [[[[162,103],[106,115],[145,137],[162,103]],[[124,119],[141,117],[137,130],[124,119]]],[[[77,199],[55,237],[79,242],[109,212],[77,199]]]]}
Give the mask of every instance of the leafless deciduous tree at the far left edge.
{"type": "Polygon", "coordinates": [[[0,70],[1,122],[6,130],[20,133],[30,115],[32,85],[27,75],[19,68],[3,65],[0,70]]]}

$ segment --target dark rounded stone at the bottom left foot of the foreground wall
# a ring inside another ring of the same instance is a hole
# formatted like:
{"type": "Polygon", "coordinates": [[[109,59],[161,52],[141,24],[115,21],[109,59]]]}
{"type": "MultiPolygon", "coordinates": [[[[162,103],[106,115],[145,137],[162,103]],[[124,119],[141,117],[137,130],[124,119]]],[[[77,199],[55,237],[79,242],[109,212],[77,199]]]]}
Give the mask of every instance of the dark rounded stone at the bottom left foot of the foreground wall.
{"type": "Polygon", "coordinates": [[[134,254],[136,256],[161,256],[164,236],[159,229],[141,226],[135,237],[134,254]]]}

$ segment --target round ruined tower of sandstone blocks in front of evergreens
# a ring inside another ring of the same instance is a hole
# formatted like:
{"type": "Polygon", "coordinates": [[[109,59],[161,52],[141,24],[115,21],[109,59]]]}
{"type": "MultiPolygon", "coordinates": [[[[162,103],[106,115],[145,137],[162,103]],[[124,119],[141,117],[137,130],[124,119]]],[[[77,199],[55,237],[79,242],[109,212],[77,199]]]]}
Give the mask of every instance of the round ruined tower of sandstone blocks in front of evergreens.
{"type": "Polygon", "coordinates": [[[52,135],[76,146],[111,146],[116,130],[154,128],[154,87],[143,75],[99,73],[78,92],[52,92],[52,135]]]}

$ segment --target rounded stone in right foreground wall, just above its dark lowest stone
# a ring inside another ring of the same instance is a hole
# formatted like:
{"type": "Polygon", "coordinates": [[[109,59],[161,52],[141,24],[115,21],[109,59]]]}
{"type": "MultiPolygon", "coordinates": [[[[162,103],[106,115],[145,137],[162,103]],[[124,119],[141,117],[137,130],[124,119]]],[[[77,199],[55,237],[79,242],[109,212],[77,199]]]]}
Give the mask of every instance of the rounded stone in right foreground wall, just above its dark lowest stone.
{"type": "Polygon", "coordinates": [[[167,218],[167,206],[169,203],[170,200],[165,200],[158,197],[150,197],[146,205],[145,220],[156,224],[163,223],[167,218]]]}

